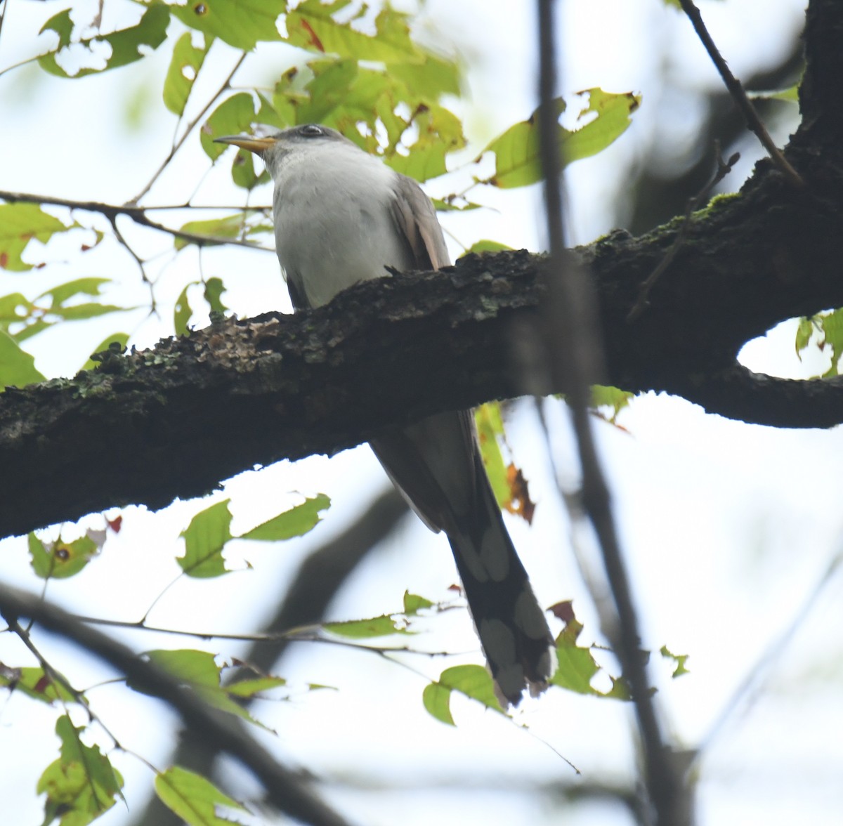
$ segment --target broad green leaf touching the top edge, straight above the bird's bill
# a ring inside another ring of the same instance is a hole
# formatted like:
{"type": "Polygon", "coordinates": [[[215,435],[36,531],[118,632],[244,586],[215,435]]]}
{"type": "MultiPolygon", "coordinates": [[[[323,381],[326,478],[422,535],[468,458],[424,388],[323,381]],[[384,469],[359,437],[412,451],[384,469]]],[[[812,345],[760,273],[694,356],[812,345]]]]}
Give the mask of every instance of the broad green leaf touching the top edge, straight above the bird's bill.
{"type": "Polygon", "coordinates": [[[277,19],[287,0],[188,0],[170,11],[186,26],[250,51],[259,41],[281,40],[277,19]]]}

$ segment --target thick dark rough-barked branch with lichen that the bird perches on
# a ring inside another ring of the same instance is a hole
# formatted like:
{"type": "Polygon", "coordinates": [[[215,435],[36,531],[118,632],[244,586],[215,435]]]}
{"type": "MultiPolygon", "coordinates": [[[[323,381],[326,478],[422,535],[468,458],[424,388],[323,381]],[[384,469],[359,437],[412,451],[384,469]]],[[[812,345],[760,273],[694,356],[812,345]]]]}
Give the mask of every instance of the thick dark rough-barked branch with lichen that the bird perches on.
{"type": "MultiPolygon", "coordinates": [[[[843,421],[843,383],[759,376],[736,361],[783,319],[843,305],[843,4],[808,9],[803,125],[787,158],[697,213],[634,322],[641,283],[682,219],[577,250],[599,293],[607,374],[774,426],[843,421]]],[[[381,426],[524,392],[561,391],[530,362],[540,256],[472,255],[352,288],[296,317],[229,319],[94,373],[0,399],[0,535],[128,503],[162,507],[278,459],[334,453],[381,426]]],[[[564,358],[564,354],[559,355],[564,358]]]]}

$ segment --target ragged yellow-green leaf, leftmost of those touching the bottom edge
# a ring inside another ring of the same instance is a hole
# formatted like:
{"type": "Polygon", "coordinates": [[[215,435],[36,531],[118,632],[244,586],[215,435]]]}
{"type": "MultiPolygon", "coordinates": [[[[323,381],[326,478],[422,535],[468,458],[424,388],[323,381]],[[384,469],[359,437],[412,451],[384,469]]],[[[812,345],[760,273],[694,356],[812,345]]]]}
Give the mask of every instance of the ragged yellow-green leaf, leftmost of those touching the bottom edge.
{"type": "Polygon", "coordinates": [[[83,728],[63,715],[56,721],[62,740],[61,757],[47,766],[36,791],[46,793],[44,826],[59,819],[62,826],[85,826],[122,797],[123,778],[99,751],[80,739],[83,728]]]}

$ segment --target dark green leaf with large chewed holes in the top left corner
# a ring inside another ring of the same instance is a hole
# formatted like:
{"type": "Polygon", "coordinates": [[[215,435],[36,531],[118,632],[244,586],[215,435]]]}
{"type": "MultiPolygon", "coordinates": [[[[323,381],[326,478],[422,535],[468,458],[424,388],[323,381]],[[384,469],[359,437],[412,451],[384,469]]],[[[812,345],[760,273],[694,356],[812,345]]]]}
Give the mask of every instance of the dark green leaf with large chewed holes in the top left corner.
{"type": "Polygon", "coordinates": [[[73,24],[70,19],[70,9],[68,8],[51,17],[41,28],[42,33],[53,31],[58,35],[58,47],[53,51],[48,51],[46,54],[40,55],[38,62],[40,67],[46,72],[58,75],[60,78],[83,78],[85,75],[94,74],[95,72],[105,72],[107,69],[126,66],[128,63],[141,60],[144,56],[140,49],[141,46],[157,49],[167,38],[168,24],[169,8],[163,3],[153,3],[147,7],[138,23],[130,26],[128,29],[121,29],[113,31],[108,35],[99,34],[94,37],[74,41],[72,40],[73,24]],[[74,47],[75,62],[75,59],[78,58],[78,47],[82,46],[83,49],[89,51],[91,60],[99,63],[102,60],[102,51],[99,45],[103,43],[110,46],[110,55],[105,59],[105,66],[100,66],[99,68],[84,67],[70,74],[57,61],[57,58],[62,56],[62,51],[72,46],[74,47]],[[96,51],[91,48],[92,44],[98,46],[96,51]]]}

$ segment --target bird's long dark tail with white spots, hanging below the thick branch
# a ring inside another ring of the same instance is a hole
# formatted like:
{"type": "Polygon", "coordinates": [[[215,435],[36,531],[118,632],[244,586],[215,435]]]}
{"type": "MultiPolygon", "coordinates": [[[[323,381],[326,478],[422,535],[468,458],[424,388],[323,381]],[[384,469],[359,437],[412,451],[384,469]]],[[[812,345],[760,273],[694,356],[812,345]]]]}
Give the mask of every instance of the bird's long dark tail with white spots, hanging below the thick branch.
{"type": "Polygon", "coordinates": [[[545,612],[491,490],[469,411],[393,427],[372,440],[390,478],[424,523],[448,535],[497,694],[518,705],[556,668],[545,612]]]}

